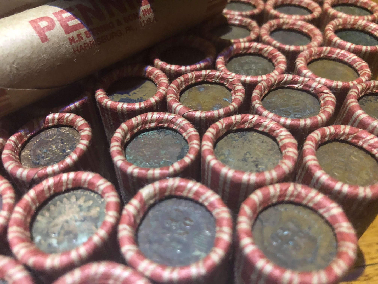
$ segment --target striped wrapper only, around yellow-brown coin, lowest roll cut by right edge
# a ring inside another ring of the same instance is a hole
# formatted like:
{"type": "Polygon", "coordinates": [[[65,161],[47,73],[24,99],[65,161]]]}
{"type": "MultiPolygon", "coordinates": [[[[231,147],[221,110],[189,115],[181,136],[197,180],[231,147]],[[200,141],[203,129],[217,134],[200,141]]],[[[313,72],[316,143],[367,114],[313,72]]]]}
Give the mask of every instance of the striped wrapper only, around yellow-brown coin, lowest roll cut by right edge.
{"type": "Polygon", "coordinates": [[[377,215],[378,183],[358,186],[342,183],[328,175],[316,158],[319,145],[344,140],[371,153],[378,160],[378,137],[366,130],[346,125],[332,125],[311,133],[298,159],[296,181],[318,189],[342,206],[359,236],[377,215]]]}

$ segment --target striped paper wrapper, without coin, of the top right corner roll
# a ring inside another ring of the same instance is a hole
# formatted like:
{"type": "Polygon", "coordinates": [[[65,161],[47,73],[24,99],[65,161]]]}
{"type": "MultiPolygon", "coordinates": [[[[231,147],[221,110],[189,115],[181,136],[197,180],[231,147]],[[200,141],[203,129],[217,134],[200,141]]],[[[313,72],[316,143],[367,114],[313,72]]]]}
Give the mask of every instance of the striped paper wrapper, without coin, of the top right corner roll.
{"type": "Polygon", "coordinates": [[[324,0],[323,7],[322,7],[322,16],[321,16],[321,25],[322,29],[325,28],[327,23],[331,22],[335,19],[341,18],[348,18],[348,19],[356,19],[356,20],[365,20],[369,22],[376,23],[378,22],[378,4],[371,1],[371,0],[324,0]],[[355,6],[359,6],[361,8],[365,8],[369,10],[372,15],[369,16],[353,16],[349,14],[345,14],[343,12],[336,11],[332,8],[334,5],[339,4],[351,4],[355,6]]]}

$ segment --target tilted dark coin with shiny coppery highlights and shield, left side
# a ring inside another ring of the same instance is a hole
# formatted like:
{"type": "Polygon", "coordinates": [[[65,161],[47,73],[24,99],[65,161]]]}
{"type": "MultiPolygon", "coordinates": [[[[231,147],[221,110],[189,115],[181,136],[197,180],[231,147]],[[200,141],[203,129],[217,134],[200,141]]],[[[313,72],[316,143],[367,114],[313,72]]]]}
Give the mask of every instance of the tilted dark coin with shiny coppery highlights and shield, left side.
{"type": "Polygon", "coordinates": [[[56,164],[71,154],[79,141],[80,134],[72,127],[47,128],[26,142],[20,154],[21,164],[28,168],[56,164]]]}

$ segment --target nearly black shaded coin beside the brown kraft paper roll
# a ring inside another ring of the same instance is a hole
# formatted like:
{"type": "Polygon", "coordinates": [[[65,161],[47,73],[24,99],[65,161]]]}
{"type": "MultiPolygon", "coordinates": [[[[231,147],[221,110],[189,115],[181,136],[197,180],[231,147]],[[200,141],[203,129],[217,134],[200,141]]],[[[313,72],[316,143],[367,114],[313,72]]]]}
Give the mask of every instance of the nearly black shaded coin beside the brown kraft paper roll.
{"type": "Polygon", "coordinates": [[[196,64],[206,58],[206,55],[196,48],[174,46],[167,48],[160,55],[160,60],[168,64],[187,66],[196,64]]]}

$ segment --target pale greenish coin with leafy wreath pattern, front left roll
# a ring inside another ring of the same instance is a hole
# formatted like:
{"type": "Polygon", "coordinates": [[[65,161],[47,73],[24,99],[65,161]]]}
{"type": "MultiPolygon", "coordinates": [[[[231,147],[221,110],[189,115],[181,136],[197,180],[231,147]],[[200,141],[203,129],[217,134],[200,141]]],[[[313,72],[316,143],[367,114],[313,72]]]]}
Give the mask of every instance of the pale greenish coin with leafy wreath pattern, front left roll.
{"type": "Polygon", "coordinates": [[[101,195],[82,188],[56,195],[36,214],[31,225],[34,243],[45,253],[78,247],[101,226],[105,204],[101,195]]]}

